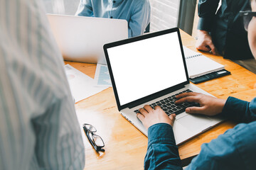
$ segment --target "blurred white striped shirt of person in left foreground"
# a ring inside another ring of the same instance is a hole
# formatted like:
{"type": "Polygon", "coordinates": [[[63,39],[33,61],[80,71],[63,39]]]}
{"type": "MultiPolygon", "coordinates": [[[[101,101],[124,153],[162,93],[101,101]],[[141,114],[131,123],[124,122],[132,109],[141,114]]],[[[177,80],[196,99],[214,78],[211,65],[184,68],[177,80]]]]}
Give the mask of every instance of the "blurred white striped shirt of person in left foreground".
{"type": "Polygon", "coordinates": [[[0,0],[0,169],[83,169],[63,59],[38,0],[0,0]]]}

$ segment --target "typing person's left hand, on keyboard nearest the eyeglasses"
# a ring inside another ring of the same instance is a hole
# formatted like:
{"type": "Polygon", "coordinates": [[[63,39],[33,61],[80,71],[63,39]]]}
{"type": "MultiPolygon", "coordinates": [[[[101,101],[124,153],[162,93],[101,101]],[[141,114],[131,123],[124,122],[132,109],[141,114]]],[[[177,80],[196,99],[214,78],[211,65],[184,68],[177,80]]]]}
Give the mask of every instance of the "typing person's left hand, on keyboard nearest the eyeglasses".
{"type": "Polygon", "coordinates": [[[156,123],[167,123],[171,126],[174,125],[176,115],[166,115],[160,106],[156,106],[153,109],[151,106],[145,105],[144,108],[139,108],[139,112],[140,113],[137,113],[137,118],[142,121],[142,124],[146,129],[156,123]]]}

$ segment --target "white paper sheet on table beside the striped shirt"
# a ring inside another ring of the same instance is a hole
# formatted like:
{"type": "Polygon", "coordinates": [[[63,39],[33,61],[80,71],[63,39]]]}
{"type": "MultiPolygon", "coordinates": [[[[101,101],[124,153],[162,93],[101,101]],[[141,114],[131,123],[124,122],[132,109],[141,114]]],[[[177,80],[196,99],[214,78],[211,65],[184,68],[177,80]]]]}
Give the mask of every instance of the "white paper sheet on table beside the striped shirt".
{"type": "Polygon", "coordinates": [[[78,71],[78,69],[70,66],[70,64],[65,65],[65,73],[67,74],[71,94],[75,98],[75,103],[107,89],[106,86],[95,86],[94,79],[78,71]]]}

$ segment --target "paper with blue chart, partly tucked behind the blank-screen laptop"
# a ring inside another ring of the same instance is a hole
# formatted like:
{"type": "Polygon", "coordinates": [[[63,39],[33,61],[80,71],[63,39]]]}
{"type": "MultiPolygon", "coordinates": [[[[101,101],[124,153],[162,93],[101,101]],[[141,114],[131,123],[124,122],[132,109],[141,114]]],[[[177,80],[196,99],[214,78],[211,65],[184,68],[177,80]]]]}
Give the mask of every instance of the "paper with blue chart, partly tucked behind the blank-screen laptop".
{"type": "Polygon", "coordinates": [[[95,72],[95,86],[112,86],[110,73],[108,72],[107,65],[97,64],[95,72]]]}

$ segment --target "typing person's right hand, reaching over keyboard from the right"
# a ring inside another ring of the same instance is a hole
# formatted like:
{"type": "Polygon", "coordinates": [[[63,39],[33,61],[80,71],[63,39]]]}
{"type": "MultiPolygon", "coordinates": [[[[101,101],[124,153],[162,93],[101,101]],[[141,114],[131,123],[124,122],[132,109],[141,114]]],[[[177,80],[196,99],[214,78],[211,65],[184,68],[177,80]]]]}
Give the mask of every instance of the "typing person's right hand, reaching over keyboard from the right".
{"type": "Polygon", "coordinates": [[[176,101],[177,104],[184,102],[199,103],[199,107],[193,106],[186,108],[186,113],[200,113],[203,115],[217,115],[221,113],[226,101],[195,92],[180,94],[176,98],[178,98],[178,101],[176,101]]]}

